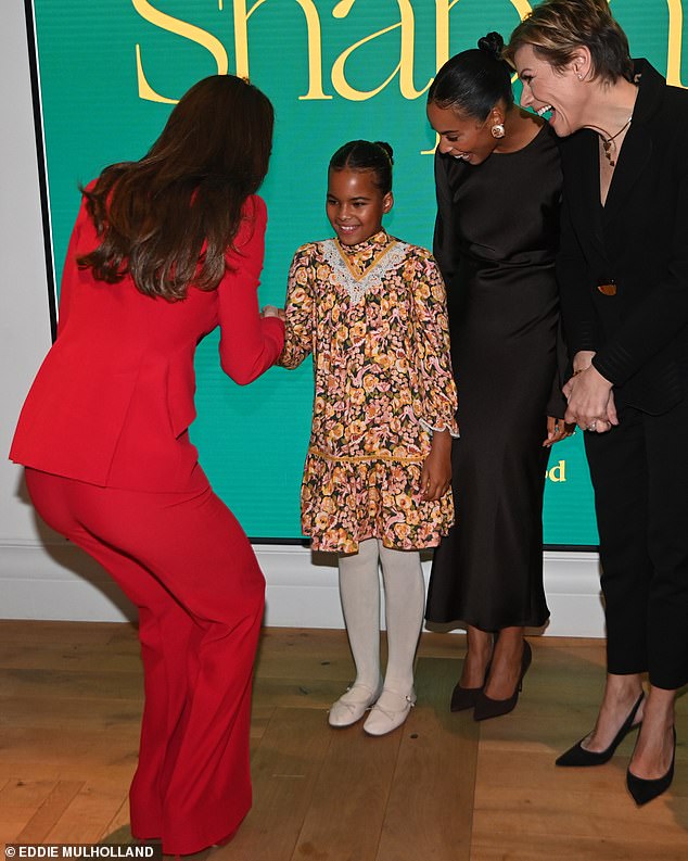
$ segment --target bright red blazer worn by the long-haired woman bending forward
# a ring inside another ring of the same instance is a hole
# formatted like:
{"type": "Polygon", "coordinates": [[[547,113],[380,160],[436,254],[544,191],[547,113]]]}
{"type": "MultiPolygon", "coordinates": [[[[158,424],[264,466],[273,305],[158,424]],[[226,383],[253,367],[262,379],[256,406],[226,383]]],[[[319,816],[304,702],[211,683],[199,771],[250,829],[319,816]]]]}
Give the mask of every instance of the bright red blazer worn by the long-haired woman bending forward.
{"type": "Polygon", "coordinates": [[[267,212],[258,197],[228,252],[217,290],[169,303],[127,277],[95,281],[76,257],[98,238],[85,202],[72,233],[60,295],[58,338],[28,393],[10,457],[101,486],[176,491],[207,485],[188,428],[195,418],[193,355],[220,327],[220,364],[240,384],[279,356],[284,326],[262,318],[257,287],[267,212]]]}

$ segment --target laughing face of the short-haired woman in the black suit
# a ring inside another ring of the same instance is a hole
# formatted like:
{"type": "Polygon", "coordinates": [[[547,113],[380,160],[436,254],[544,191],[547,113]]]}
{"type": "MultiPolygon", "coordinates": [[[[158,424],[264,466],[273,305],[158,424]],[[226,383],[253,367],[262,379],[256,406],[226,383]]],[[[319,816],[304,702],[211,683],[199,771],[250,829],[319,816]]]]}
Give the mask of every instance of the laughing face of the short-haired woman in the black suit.
{"type": "Polygon", "coordinates": [[[523,83],[521,104],[543,116],[551,111],[549,125],[562,138],[577,131],[584,123],[589,87],[582,80],[589,73],[585,50],[572,58],[563,68],[555,68],[535,52],[532,45],[523,45],[513,62],[523,83]]]}

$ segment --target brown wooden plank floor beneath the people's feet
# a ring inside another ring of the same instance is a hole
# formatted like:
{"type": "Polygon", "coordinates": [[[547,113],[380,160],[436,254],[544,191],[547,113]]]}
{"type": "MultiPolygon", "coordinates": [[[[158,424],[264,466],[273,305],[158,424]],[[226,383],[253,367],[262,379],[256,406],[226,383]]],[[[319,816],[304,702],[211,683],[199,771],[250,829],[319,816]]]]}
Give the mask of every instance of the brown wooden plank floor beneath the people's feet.
{"type": "MultiPolygon", "coordinates": [[[[607,765],[553,767],[590,726],[599,641],[533,638],[517,710],[451,714],[463,638],[423,634],[418,706],[383,738],[333,731],[342,631],[271,629],[257,662],[254,807],[212,861],[687,861],[688,696],[676,777],[637,809],[628,738],[607,765]]],[[[142,704],[127,624],[0,621],[0,841],[126,843],[142,704]]]]}

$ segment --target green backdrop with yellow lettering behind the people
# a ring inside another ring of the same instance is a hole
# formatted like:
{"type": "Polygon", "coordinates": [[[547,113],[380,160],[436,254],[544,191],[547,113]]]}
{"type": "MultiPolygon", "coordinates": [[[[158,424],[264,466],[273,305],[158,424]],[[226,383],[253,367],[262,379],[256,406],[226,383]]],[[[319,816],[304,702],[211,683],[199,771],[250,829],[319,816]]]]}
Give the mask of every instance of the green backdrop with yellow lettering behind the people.
{"type": "MultiPolygon", "coordinates": [[[[326,166],[353,138],[395,151],[387,229],[429,245],[434,135],[425,90],[451,54],[488,30],[508,38],[525,0],[27,0],[34,15],[50,232],[60,271],[79,204],[77,183],[140,157],[171,103],[218,72],[250,75],[277,112],[262,303],[281,304],[294,250],[330,235],[326,166]]],[[[613,0],[633,53],[681,84],[680,0],[613,0]]],[[[685,63],[684,63],[685,65],[685,63]]],[[[688,73],[686,75],[688,77],[688,73]]],[[[253,537],[297,539],[311,368],[271,369],[247,388],[228,380],[217,333],[196,359],[192,438],[216,491],[253,537]]],[[[581,434],[550,457],[545,541],[595,545],[581,434]]]]}

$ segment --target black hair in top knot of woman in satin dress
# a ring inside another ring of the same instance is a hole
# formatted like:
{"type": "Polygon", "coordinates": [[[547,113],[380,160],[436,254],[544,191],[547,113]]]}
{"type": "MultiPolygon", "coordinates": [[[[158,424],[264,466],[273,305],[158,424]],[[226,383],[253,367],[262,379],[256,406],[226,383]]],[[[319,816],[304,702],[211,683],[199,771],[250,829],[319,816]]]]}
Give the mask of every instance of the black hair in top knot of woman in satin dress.
{"type": "Polygon", "coordinates": [[[511,68],[501,58],[501,36],[488,33],[477,45],[447,60],[430,86],[428,102],[482,122],[500,102],[511,107],[513,91],[511,68]]]}

